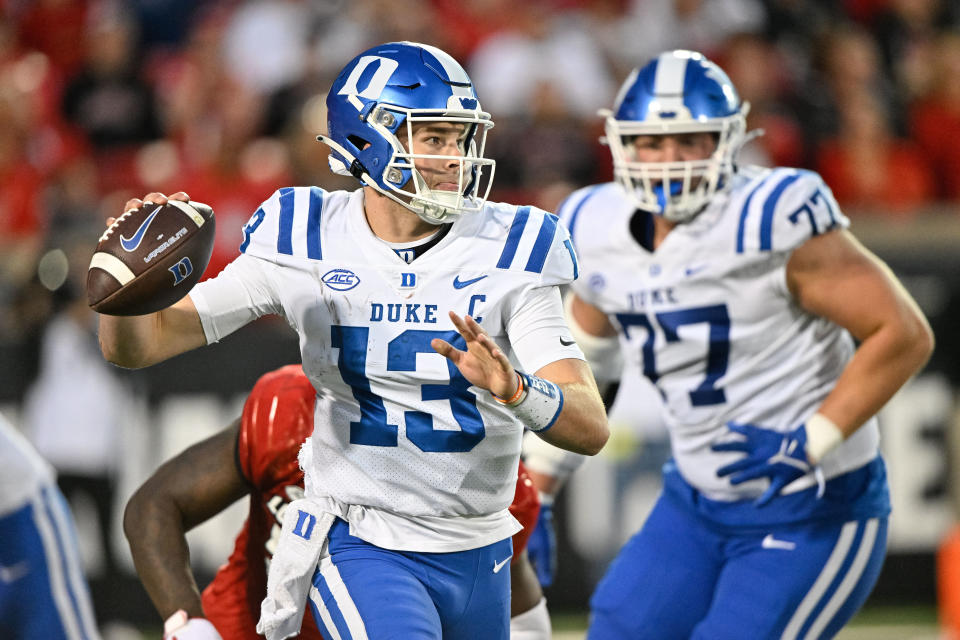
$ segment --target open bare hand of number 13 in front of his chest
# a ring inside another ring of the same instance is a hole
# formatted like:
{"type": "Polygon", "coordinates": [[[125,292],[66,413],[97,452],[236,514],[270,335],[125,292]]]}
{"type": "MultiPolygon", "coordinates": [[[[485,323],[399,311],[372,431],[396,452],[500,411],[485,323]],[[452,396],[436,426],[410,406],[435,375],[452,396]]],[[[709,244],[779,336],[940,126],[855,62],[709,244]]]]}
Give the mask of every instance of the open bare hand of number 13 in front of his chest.
{"type": "Polygon", "coordinates": [[[501,398],[512,396],[517,390],[517,374],[490,334],[470,316],[461,318],[451,311],[450,319],[466,342],[466,351],[439,338],[432,340],[430,346],[453,362],[470,384],[501,398]]]}

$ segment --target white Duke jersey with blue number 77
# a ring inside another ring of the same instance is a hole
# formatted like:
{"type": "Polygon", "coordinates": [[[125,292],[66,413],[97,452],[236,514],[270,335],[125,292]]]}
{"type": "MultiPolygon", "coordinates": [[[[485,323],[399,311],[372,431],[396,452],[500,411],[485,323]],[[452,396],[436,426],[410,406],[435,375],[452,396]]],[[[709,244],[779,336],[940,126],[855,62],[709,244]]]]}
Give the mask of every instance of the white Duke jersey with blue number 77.
{"type": "MultiPolygon", "coordinates": [[[[755,498],[767,483],[717,477],[743,455],[711,451],[729,439],[726,424],[796,428],[854,351],[846,330],[801,309],[786,284],[794,249],[849,226],[829,188],[792,169],[749,167],[733,180],[656,251],[631,235],[634,207],[617,184],[581,189],[560,211],[580,258],[573,290],[619,329],[625,366],[642,371],[663,398],[678,469],[714,500],[755,498]]],[[[878,443],[871,419],[825,456],[824,475],[866,464],[878,443]]],[[[801,478],[786,491],[811,482],[801,478]]]]}

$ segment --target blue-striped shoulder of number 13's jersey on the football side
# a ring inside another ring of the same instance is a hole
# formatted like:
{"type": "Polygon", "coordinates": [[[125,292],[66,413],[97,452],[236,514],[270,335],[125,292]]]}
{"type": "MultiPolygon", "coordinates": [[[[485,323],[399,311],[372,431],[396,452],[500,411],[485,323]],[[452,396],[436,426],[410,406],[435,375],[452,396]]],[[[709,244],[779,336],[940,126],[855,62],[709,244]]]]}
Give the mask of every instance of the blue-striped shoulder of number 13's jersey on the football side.
{"type": "Polygon", "coordinates": [[[326,192],[319,187],[284,187],[260,205],[243,227],[241,253],[323,259],[321,220],[326,192]]]}

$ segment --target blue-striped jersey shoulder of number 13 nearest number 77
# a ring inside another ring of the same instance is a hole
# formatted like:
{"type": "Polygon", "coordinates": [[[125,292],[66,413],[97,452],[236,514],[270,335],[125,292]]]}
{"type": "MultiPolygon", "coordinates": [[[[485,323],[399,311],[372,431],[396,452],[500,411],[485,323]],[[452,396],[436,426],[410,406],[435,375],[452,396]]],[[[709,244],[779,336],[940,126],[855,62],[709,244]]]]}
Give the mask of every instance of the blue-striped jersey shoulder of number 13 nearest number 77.
{"type": "Polygon", "coordinates": [[[497,260],[498,269],[537,274],[544,284],[579,276],[577,255],[559,218],[535,207],[518,207],[497,260]]]}

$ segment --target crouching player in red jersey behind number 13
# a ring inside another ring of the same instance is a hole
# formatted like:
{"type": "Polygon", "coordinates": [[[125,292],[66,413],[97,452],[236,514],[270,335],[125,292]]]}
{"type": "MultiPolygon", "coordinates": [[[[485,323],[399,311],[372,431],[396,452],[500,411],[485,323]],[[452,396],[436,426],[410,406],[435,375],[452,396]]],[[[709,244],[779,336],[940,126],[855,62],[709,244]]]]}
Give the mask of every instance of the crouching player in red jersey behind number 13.
{"type": "MultiPolygon", "coordinates": [[[[137,573],[160,615],[172,622],[167,635],[256,640],[267,566],[280,535],[284,511],[303,497],[297,453],[313,431],[316,392],[299,365],[260,378],[241,418],[160,467],[134,493],[124,528],[137,573]],[[250,497],[250,512],[233,553],[213,582],[199,593],[190,572],[187,530],[250,497]],[[204,620],[205,619],[205,620],[204,620]],[[177,626],[179,623],[179,626],[177,626]],[[196,628],[196,630],[194,630],[196,628]],[[186,636],[187,631],[197,635],[186,636]],[[206,635],[199,635],[207,632],[206,635]]],[[[537,492],[521,467],[510,512],[524,526],[513,537],[512,624],[531,624],[538,635],[511,629],[511,638],[550,637],[543,593],[523,553],[537,518],[537,492]]],[[[299,638],[321,638],[308,620],[299,638]]]]}

